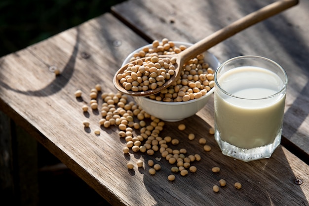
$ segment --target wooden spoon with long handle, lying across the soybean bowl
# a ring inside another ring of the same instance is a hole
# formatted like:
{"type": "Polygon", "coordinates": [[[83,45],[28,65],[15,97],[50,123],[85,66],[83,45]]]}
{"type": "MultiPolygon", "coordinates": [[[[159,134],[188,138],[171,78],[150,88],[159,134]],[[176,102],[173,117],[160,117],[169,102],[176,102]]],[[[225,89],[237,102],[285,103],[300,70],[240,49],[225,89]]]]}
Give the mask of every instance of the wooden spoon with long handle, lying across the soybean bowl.
{"type": "MultiPolygon", "coordinates": [[[[147,90],[147,91],[129,91],[126,90],[121,83],[117,80],[116,76],[117,74],[122,74],[123,71],[128,67],[128,64],[124,65],[121,67],[117,72],[116,75],[114,76],[114,85],[116,89],[124,94],[128,94],[131,96],[149,96],[155,93],[160,92],[161,90],[167,88],[177,80],[180,76],[182,67],[184,63],[189,61],[190,59],[196,57],[196,55],[203,53],[204,51],[208,50],[212,46],[218,44],[221,41],[224,41],[231,37],[232,35],[248,28],[249,26],[252,26],[262,20],[265,20],[269,18],[270,16],[273,16],[287,8],[290,8],[294,5],[298,4],[298,0],[280,0],[276,1],[274,3],[271,3],[270,5],[267,5],[253,13],[250,13],[237,21],[233,22],[229,26],[226,26],[217,32],[213,33],[212,35],[202,39],[201,41],[198,41],[194,43],[192,46],[186,48],[184,51],[180,52],[179,54],[173,54],[173,55],[160,55],[160,57],[172,57],[176,56],[177,61],[175,64],[175,74],[168,80],[166,81],[162,86],[157,87],[153,90],[147,90]]],[[[147,57],[146,57],[147,58],[147,57]]],[[[142,58],[145,59],[145,58],[142,58]]],[[[136,64],[135,61],[130,62],[133,64],[136,64]]]]}

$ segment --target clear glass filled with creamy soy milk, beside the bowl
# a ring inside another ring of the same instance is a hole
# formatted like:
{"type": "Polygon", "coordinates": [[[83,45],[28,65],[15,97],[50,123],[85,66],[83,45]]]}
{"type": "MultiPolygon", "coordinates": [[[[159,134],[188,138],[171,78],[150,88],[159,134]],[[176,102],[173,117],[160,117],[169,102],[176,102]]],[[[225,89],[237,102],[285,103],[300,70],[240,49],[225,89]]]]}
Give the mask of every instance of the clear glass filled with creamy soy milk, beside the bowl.
{"type": "Polygon", "coordinates": [[[215,73],[215,139],[224,155],[269,158],[281,141],[287,75],[276,62],[239,56],[215,73]]]}

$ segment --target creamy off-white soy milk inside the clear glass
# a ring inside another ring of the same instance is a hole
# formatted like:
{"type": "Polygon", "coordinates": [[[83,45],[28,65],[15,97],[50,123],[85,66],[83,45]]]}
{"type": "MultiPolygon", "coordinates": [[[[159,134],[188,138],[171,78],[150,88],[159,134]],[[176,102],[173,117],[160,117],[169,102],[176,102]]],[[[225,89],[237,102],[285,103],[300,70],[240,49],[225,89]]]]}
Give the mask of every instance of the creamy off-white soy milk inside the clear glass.
{"type": "Polygon", "coordinates": [[[220,137],[239,148],[271,144],[281,135],[284,82],[273,72],[252,66],[222,74],[215,89],[215,124],[220,137]],[[276,94],[276,95],[275,95],[276,94]]]}

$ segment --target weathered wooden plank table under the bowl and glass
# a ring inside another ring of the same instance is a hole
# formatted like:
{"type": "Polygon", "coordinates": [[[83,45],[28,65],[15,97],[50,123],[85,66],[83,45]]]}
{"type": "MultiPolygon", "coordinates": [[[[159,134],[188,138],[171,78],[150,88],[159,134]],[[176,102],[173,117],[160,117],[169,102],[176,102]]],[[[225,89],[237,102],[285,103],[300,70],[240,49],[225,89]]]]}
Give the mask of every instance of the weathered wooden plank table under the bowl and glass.
{"type": "MultiPolygon", "coordinates": [[[[273,0],[128,0],[111,13],[0,58],[0,109],[45,146],[112,205],[309,205],[309,3],[265,20],[209,49],[220,62],[260,55],[278,62],[289,78],[282,144],[270,159],[244,163],[222,155],[208,129],[214,126],[213,97],[193,117],[165,123],[162,137],[178,138],[179,148],[200,154],[195,173],[176,174],[171,165],[143,153],[123,154],[116,126],[100,127],[100,115],[81,110],[91,88],[116,92],[112,78],[124,58],[153,40],[196,42],[273,0]],[[60,75],[50,70],[58,68],[60,75]],[[82,100],[75,97],[83,91],[82,100]],[[90,122],[90,129],[82,121],[90,122]],[[185,131],[177,129],[186,124],[185,131]],[[94,129],[101,134],[95,135],[94,129]],[[195,139],[188,140],[194,133],[195,139]],[[212,147],[203,151],[199,138],[212,147]],[[146,163],[161,165],[155,175],[146,163]],[[128,162],[145,162],[128,169],[128,162]],[[213,173],[211,168],[221,171],[213,173]],[[227,186],[218,193],[219,179],[227,186]],[[296,184],[300,179],[302,184],[296,184]],[[241,182],[242,188],[233,187],[241,182]]],[[[78,198],[78,197],[77,197],[78,198]]]]}

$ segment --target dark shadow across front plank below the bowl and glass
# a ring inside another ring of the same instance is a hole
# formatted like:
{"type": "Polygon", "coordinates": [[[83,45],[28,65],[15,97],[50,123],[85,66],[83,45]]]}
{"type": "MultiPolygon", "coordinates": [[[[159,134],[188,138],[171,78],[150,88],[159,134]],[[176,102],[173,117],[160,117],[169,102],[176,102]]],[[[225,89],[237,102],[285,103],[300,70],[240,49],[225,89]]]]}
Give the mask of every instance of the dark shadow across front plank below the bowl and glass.
{"type": "Polygon", "coordinates": [[[194,115],[191,118],[177,123],[166,123],[160,136],[169,135],[178,138],[180,144],[169,145],[172,149],[186,148],[190,154],[200,154],[201,160],[192,165],[197,167],[195,173],[189,172],[187,176],[176,173],[174,181],[168,181],[167,176],[172,174],[168,161],[161,159],[156,161],[154,157],[144,156],[145,169],[149,159],[161,165],[161,170],[155,175],[148,172],[144,174],[144,183],[148,192],[154,197],[159,205],[308,205],[306,196],[301,187],[294,183],[297,178],[290,167],[286,149],[279,146],[270,159],[257,160],[249,163],[235,160],[224,156],[214,136],[208,133],[209,125],[194,115]],[[178,124],[186,124],[185,131],[170,133],[169,128],[178,124]],[[198,131],[190,128],[200,128],[198,131]],[[188,140],[188,134],[194,133],[195,139],[188,140]],[[203,150],[203,145],[198,143],[199,138],[206,138],[207,144],[211,146],[210,152],[203,150]],[[213,173],[211,168],[219,166],[219,173],[213,173]],[[219,180],[225,179],[227,185],[221,187],[218,193],[213,192],[213,185],[219,185],[219,180]],[[164,183],[162,183],[164,182],[164,183]],[[242,188],[237,190],[233,184],[240,182],[242,188]]]}

